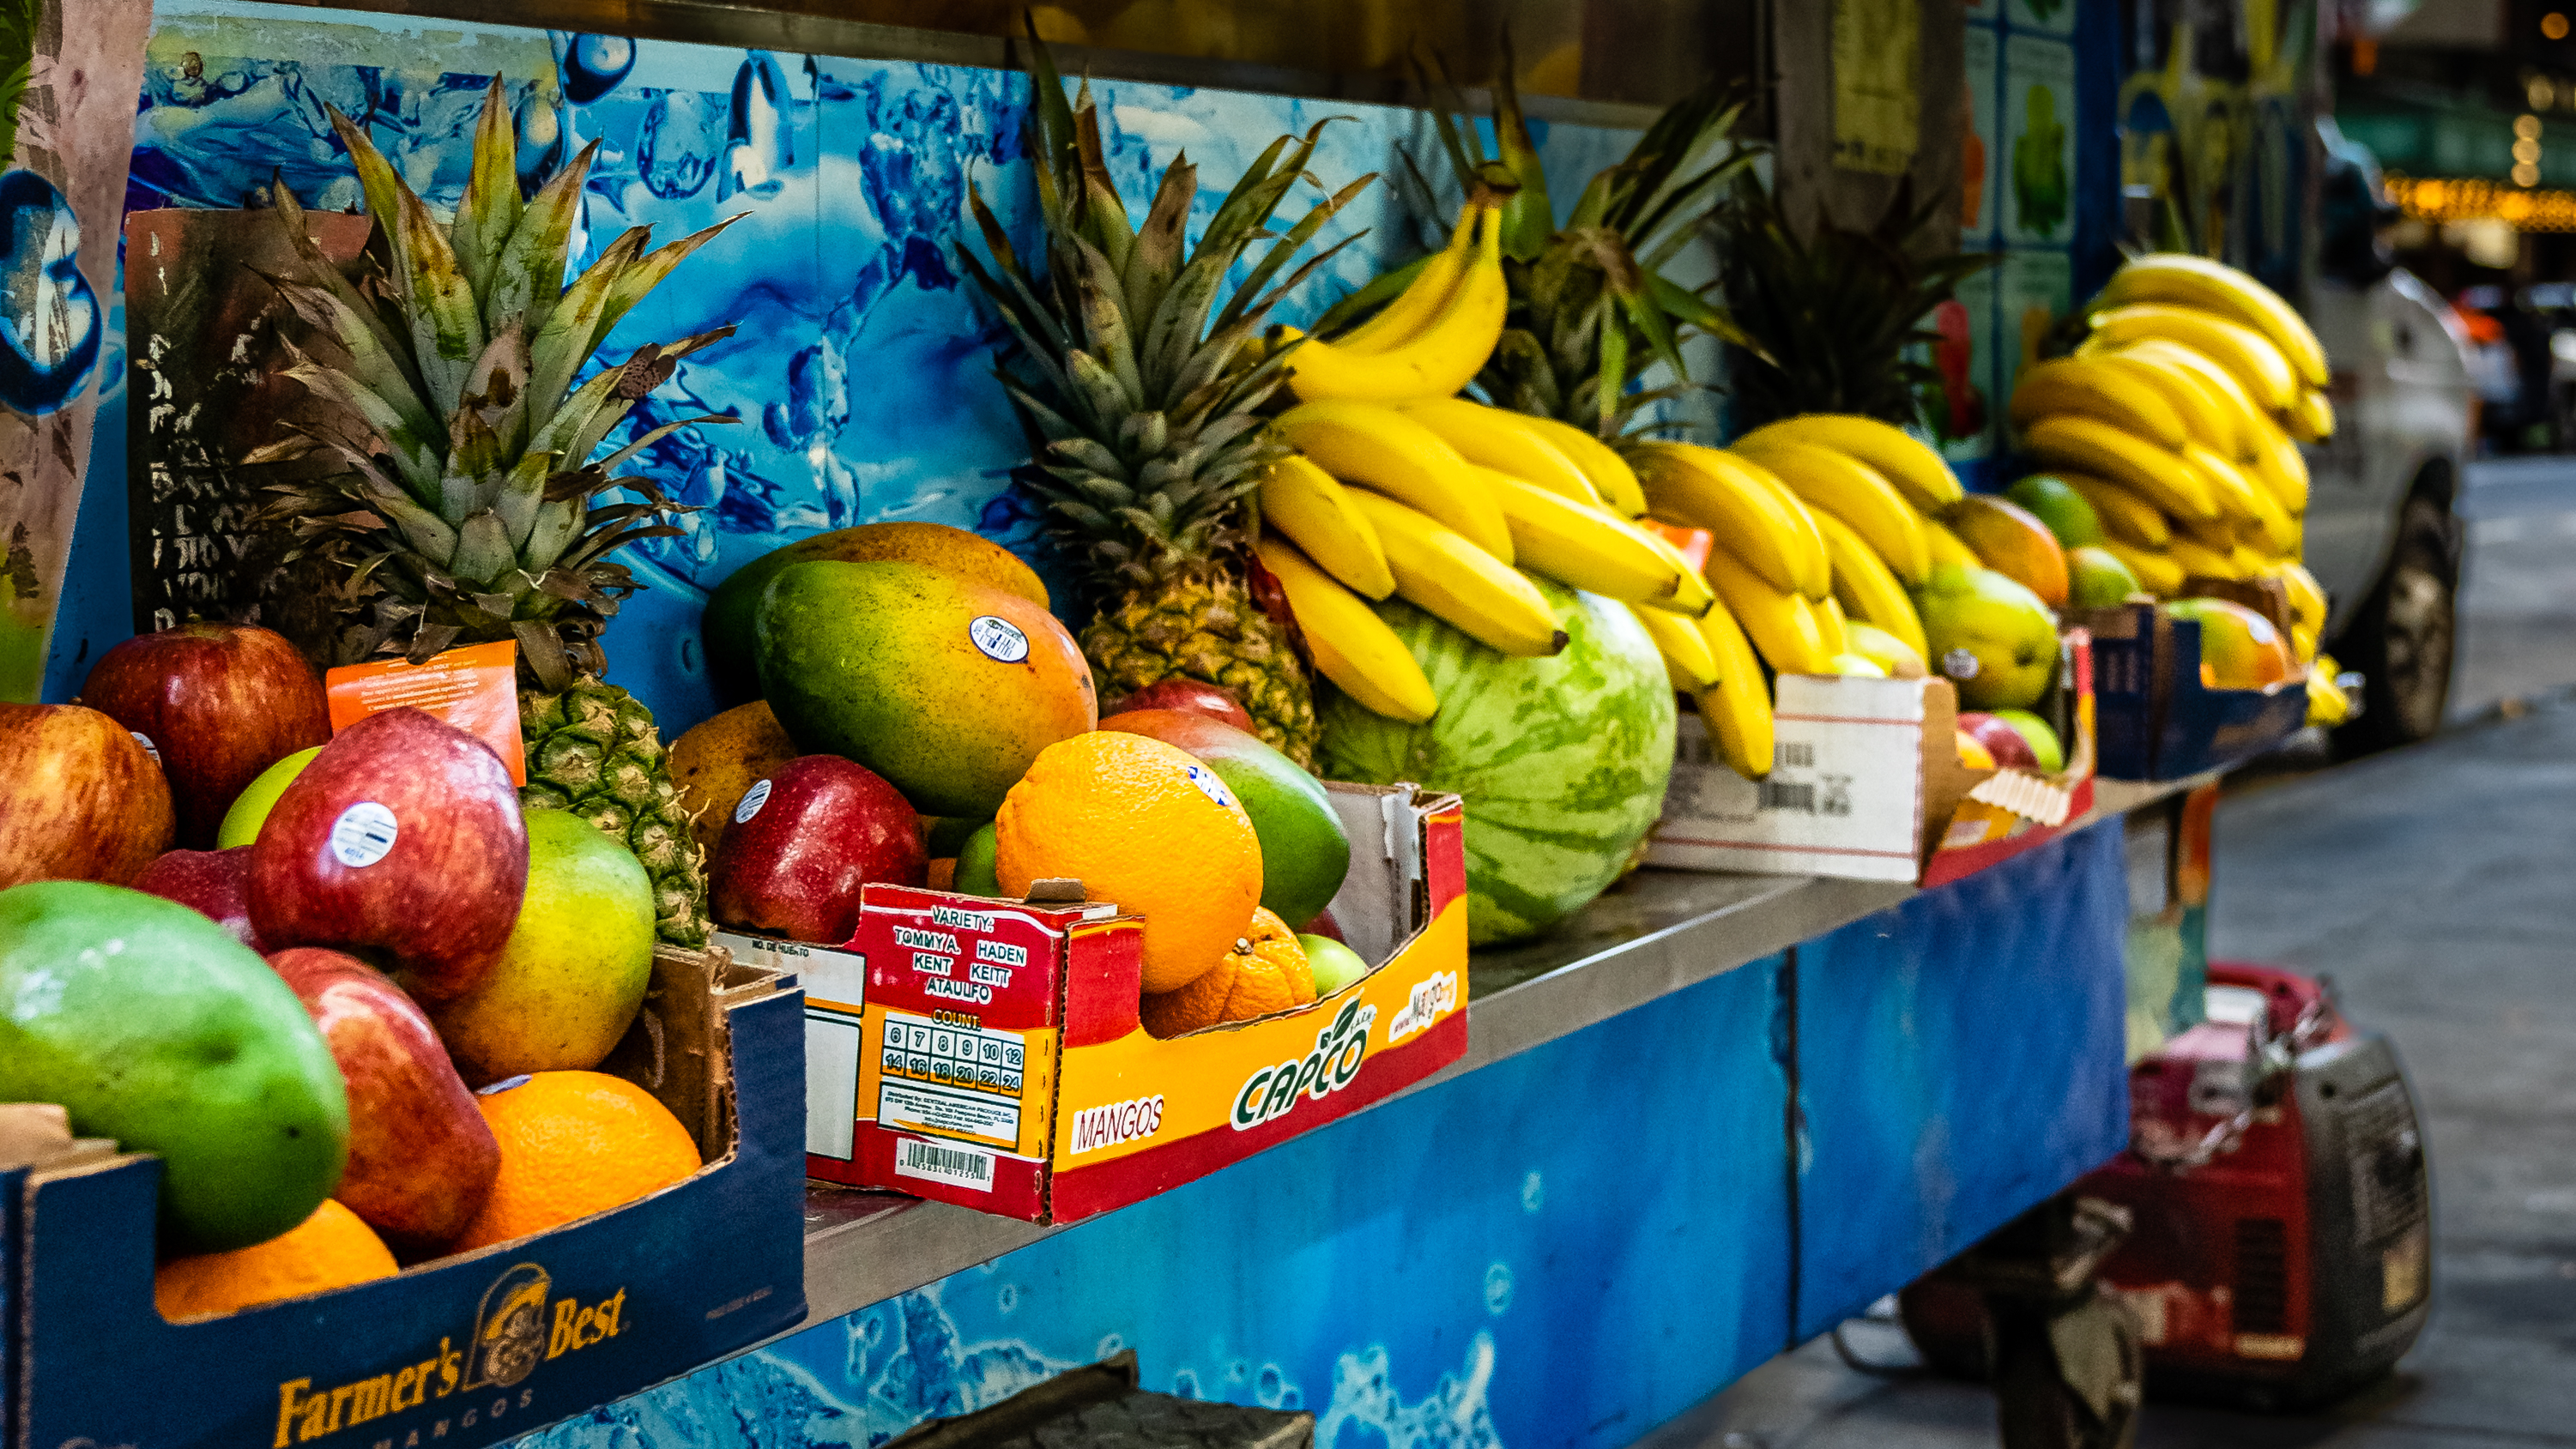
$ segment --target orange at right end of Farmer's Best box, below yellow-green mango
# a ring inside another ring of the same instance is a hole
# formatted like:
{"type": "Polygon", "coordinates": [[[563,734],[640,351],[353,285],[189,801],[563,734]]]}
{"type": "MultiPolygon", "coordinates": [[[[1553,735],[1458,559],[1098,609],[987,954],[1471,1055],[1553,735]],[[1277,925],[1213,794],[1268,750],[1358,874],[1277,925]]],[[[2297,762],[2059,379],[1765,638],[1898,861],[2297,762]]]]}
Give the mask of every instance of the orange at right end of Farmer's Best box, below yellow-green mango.
{"type": "Polygon", "coordinates": [[[698,1171],[698,1143],[641,1086],[600,1071],[541,1071],[474,1099],[500,1174],[451,1253],[623,1207],[698,1171]]]}

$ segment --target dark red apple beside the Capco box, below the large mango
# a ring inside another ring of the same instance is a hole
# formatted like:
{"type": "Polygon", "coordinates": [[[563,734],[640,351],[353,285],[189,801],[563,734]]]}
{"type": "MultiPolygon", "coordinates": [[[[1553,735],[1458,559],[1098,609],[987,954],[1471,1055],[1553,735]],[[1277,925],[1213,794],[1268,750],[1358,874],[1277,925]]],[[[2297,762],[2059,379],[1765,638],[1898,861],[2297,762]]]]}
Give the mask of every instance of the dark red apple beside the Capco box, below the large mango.
{"type": "Polygon", "coordinates": [[[729,927],[842,945],[868,880],[922,885],[930,857],[902,790],[837,754],[788,759],[742,793],[706,903],[729,927]]]}

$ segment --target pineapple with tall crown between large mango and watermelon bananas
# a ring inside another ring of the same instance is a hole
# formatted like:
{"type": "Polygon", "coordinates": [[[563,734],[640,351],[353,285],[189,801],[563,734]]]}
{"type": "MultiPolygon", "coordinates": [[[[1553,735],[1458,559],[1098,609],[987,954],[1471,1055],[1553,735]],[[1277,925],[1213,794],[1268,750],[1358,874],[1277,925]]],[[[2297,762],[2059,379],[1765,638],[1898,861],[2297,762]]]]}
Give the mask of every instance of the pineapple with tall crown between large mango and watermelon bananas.
{"type": "Polygon", "coordinates": [[[1252,342],[1270,309],[1347,242],[1262,288],[1376,178],[1306,211],[1216,309],[1226,270],[1270,237],[1270,214],[1303,180],[1321,126],[1273,142],[1185,252],[1198,167],[1188,157],[1164,167],[1133,226],[1110,185],[1090,82],[1066,106],[1036,39],[1030,80],[1043,265],[1023,268],[976,193],[969,203],[992,270],[971,252],[963,263],[1018,340],[997,376],[1036,453],[1020,479],[1046,499],[1056,543],[1095,600],[1082,651],[1100,697],[1172,677],[1221,685],[1262,741],[1306,764],[1316,739],[1306,669],[1247,569],[1247,494],[1285,453],[1257,412],[1283,373],[1252,342]]]}

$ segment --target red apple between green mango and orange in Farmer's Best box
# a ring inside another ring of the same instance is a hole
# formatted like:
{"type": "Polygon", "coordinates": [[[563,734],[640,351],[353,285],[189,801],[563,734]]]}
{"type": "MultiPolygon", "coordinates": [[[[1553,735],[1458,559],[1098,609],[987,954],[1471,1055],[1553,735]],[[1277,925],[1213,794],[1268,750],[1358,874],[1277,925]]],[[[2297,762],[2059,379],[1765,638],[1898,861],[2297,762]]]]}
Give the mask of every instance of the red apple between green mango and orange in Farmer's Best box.
{"type": "Polygon", "coordinates": [[[397,1246],[464,1233],[492,1192],[500,1143],[428,1014],[353,955],[294,947],[268,965],[322,1027],[348,1081],[348,1171],[332,1197],[397,1246]]]}

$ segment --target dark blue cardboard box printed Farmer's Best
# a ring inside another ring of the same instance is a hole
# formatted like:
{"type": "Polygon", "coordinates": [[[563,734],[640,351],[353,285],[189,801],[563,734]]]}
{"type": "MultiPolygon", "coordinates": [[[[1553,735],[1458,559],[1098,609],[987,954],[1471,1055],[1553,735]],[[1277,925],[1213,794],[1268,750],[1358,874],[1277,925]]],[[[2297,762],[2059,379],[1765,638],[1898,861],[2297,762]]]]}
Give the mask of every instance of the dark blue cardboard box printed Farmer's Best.
{"type": "Polygon", "coordinates": [[[474,1449],[799,1323],[796,1001],[775,970],[657,952],[649,1022],[603,1071],[688,1125],[698,1174],[554,1233],[227,1318],[152,1307],[160,1158],[26,1174],[0,1444],[474,1449]]]}

